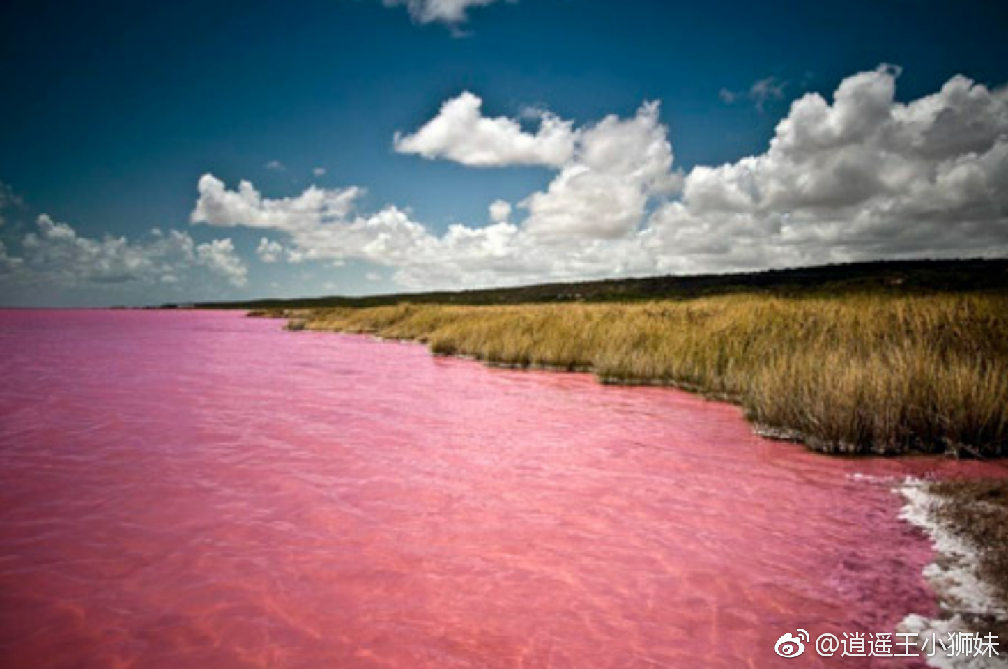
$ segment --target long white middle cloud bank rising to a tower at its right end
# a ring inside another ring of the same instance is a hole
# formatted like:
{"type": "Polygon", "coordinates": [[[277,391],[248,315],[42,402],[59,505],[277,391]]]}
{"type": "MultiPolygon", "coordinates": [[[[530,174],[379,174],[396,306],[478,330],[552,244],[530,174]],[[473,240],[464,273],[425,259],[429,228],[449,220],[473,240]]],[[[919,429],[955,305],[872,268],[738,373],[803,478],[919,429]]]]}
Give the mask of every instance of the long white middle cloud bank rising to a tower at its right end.
{"type": "MultiPolygon", "coordinates": [[[[290,262],[364,260],[393,268],[393,278],[408,287],[458,286],[462,278],[516,283],[646,271],[646,262],[633,253],[639,245],[632,238],[647,204],[673,191],[680,180],[671,171],[671,146],[657,104],[643,105],[629,119],[610,116],[569,132],[576,145],[549,187],[522,204],[528,216],[521,225],[510,223],[510,205],[497,200],[492,225],[454,225],[438,236],[396,207],[356,212],[360,189],[355,187],[312,187],[296,197],[271,199],[251,183],[232,190],[211,174],[200,179],[192,219],[283,232],[290,239],[290,262]],[[617,243],[620,237],[626,240],[617,243]]],[[[468,145],[469,138],[462,139],[461,145],[468,145]]],[[[525,145],[522,138],[516,141],[525,145]]]]}

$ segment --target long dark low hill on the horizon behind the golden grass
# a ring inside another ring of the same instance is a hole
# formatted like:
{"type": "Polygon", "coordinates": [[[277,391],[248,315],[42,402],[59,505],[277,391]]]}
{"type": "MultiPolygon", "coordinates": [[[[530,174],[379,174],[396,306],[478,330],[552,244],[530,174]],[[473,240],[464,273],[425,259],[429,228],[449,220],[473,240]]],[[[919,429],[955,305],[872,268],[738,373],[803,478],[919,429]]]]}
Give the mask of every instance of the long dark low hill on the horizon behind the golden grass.
{"type": "MultiPolygon", "coordinates": [[[[378,306],[382,304],[519,304],[526,302],[606,302],[644,299],[687,299],[728,293],[762,293],[782,296],[836,295],[891,292],[926,294],[965,290],[1008,290],[1008,258],[993,260],[896,260],[735,274],[651,276],[602,279],[570,283],[542,283],[515,288],[422,293],[396,293],[366,297],[305,297],[257,299],[240,302],[202,302],[185,307],[214,309],[319,308],[326,306],[378,306]]],[[[178,308],[179,304],[164,304],[178,308]]]]}

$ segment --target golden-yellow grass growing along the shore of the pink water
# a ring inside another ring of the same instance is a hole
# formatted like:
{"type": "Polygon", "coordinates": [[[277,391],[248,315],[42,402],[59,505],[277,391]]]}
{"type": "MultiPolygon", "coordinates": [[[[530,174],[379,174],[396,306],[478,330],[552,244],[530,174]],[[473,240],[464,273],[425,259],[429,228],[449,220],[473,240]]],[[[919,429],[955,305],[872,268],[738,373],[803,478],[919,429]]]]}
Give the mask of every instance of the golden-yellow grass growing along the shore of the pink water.
{"type": "Polygon", "coordinates": [[[305,329],[725,396],[758,425],[820,450],[1008,454],[1008,295],[400,304],[297,315],[305,329]]]}

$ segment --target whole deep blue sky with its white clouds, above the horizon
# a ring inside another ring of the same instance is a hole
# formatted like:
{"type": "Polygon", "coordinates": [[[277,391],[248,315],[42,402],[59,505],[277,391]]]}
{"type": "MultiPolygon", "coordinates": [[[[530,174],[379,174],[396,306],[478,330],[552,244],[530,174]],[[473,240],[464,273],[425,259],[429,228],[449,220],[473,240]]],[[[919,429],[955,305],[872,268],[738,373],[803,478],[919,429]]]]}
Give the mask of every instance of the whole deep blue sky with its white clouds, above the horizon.
{"type": "Polygon", "coordinates": [[[1008,243],[1004,3],[392,4],[5,3],[0,303],[361,294],[1008,243]],[[943,89],[956,76],[968,80],[943,89]],[[440,114],[466,92],[479,104],[440,114]],[[832,116],[791,108],[811,94],[832,116]],[[544,119],[555,154],[535,148],[544,119]],[[775,135],[790,148],[770,150],[775,135]],[[241,180],[256,197],[231,197],[241,180]],[[495,202],[507,216],[488,214],[495,202]]]}

